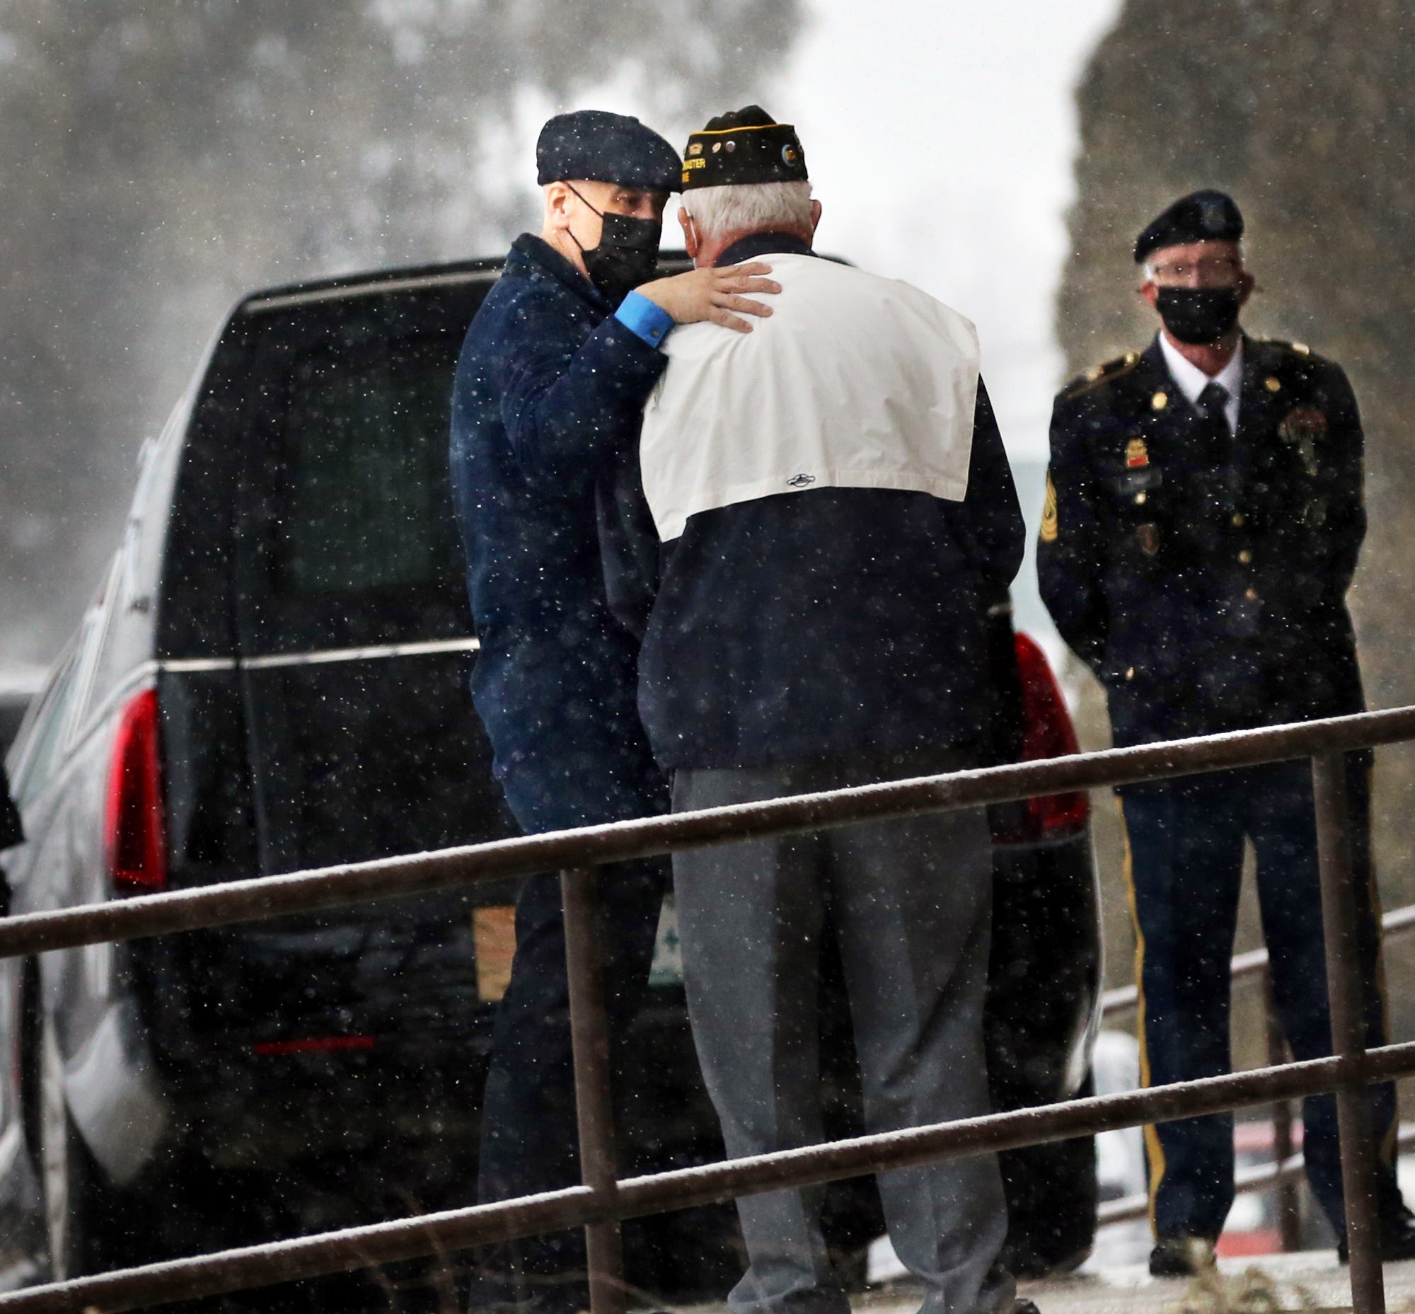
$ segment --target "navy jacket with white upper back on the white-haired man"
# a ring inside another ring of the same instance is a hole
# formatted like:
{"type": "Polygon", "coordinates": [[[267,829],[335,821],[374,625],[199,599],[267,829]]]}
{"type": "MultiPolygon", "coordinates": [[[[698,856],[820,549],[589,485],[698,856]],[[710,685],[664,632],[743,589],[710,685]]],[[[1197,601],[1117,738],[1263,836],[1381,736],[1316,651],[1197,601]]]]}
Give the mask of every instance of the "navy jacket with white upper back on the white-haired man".
{"type": "Polygon", "coordinates": [[[1023,552],[972,326],[781,234],[719,263],[758,258],[773,316],[675,330],[604,525],[654,753],[966,749],[988,722],[983,613],[1023,552]]]}

